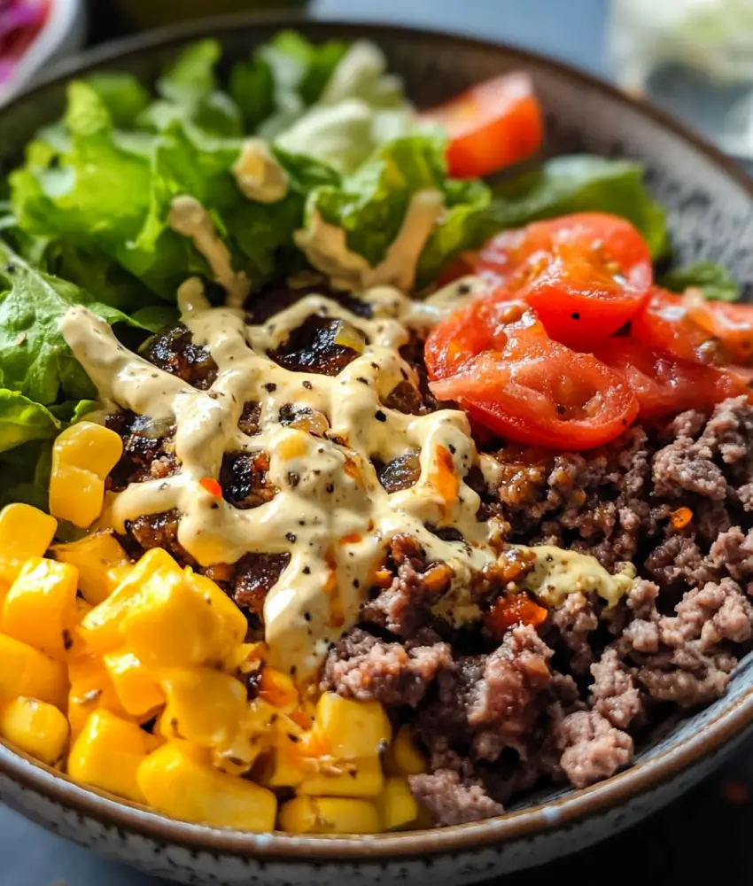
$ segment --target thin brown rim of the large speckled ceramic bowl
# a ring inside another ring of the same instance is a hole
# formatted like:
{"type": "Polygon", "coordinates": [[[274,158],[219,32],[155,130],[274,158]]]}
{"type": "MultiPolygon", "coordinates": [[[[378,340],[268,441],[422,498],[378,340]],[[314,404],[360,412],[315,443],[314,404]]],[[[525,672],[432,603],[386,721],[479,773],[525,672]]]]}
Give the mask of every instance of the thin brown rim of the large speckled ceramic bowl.
{"type": "MultiPolygon", "coordinates": [[[[534,65],[547,68],[550,73],[558,74],[574,86],[581,84],[590,90],[601,92],[612,102],[631,107],[660,126],[671,130],[692,144],[695,150],[703,154],[710,163],[723,169],[726,175],[734,179],[741,189],[747,191],[753,200],[753,179],[733,159],[726,157],[679,120],[672,118],[670,114],[639,99],[628,97],[615,87],[576,67],[505,43],[450,34],[439,29],[403,27],[365,20],[328,19],[326,16],[312,19],[301,13],[241,12],[198,22],[187,22],[107,43],[56,66],[45,79],[14,97],[12,102],[0,108],[0,122],[4,113],[14,105],[70,77],[86,74],[92,68],[117,64],[124,58],[177,46],[198,37],[216,36],[221,39],[225,34],[252,28],[254,25],[281,28],[305,25],[310,31],[321,32],[322,36],[347,37],[352,36],[353,32],[362,31],[377,43],[384,37],[400,36],[416,42],[436,41],[438,50],[439,48],[451,50],[453,47],[466,49],[476,47],[484,51],[501,50],[509,60],[520,66],[534,65]]],[[[656,757],[639,761],[625,772],[618,773],[591,788],[573,790],[547,803],[534,804],[493,819],[450,828],[408,831],[400,834],[352,837],[297,836],[279,832],[248,834],[189,824],[169,819],[157,812],[151,812],[143,805],[128,803],[105,792],[83,788],[68,779],[66,775],[12,750],[4,742],[0,742],[0,773],[83,816],[159,842],[177,843],[195,851],[314,864],[360,860],[386,862],[394,859],[415,859],[473,851],[489,845],[532,837],[547,830],[566,828],[578,821],[593,818],[612,807],[634,800],[651,789],[656,789],[662,783],[671,781],[685,769],[720,750],[726,743],[733,742],[751,724],[753,724],[753,682],[733,702],[726,707],[723,706],[714,719],[704,724],[702,730],[683,738],[656,757]]]]}

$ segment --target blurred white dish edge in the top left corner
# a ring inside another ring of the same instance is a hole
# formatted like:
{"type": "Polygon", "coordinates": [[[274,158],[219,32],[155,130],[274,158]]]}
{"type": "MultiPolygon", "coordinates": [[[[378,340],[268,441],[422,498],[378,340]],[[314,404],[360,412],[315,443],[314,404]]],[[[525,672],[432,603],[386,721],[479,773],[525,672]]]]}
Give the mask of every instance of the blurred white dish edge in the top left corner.
{"type": "Polygon", "coordinates": [[[50,0],[50,12],[15,66],[11,79],[0,83],[0,105],[48,72],[50,64],[79,51],[86,38],[86,7],[82,0],[50,0]]]}

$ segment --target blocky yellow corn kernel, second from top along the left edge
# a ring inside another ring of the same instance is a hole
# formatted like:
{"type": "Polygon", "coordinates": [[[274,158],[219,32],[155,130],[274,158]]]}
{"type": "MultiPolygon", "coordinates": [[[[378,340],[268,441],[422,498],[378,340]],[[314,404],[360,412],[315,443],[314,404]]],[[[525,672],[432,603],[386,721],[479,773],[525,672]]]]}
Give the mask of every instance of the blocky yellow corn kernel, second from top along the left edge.
{"type": "Polygon", "coordinates": [[[3,633],[65,658],[74,644],[78,571],[68,563],[30,557],[3,604],[3,633]]]}

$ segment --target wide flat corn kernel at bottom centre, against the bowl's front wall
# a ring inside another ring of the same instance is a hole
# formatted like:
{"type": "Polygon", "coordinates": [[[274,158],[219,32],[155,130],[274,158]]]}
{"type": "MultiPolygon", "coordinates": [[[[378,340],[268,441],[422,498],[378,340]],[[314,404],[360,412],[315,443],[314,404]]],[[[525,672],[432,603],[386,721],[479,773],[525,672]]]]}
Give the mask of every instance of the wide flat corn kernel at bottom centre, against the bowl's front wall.
{"type": "Polygon", "coordinates": [[[377,807],[345,797],[295,797],[283,805],[280,829],[290,834],[377,834],[377,807]]]}

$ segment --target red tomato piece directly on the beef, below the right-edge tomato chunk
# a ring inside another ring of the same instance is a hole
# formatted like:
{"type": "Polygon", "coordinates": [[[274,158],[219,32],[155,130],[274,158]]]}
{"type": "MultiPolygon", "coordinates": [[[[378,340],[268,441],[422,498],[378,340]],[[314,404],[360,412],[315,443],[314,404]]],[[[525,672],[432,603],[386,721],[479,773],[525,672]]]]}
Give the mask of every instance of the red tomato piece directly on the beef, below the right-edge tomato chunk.
{"type": "Polygon", "coordinates": [[[749,393],[745,381],[726,369],[680,360],[629,336],[602,341],[594,355],[625,377],[640,404],[641,418],[706,409],[749,393]]]}

